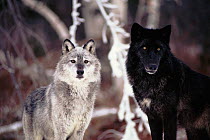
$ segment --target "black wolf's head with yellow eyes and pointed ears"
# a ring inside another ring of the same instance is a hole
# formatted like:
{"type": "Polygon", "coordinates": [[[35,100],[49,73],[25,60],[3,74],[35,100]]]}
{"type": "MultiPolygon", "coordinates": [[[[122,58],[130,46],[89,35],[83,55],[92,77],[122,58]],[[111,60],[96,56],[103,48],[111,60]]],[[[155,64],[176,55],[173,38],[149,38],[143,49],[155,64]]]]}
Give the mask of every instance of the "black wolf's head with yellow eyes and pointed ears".
{"type": "Polygon", "coordinates": [[[146,29],[138,23],[131,28],[131,48],[148,74],[155,74],[165,52],[169,51],[171,25],[161,29],[146,29]]]}

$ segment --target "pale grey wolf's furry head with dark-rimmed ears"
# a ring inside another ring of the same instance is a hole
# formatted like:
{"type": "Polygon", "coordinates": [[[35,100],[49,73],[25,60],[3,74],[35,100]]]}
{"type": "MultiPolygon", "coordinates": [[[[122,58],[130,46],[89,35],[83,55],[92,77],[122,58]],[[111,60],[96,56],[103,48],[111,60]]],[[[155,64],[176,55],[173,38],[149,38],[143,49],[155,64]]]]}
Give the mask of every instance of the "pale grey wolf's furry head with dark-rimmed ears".
{"type": "Polygon", "coordinates": [[[89,40],[83,47],[75,47],[66,39],[54,77],[67,83],[95,82],[100,80],[100,69],[93,40],[89,40]]]}

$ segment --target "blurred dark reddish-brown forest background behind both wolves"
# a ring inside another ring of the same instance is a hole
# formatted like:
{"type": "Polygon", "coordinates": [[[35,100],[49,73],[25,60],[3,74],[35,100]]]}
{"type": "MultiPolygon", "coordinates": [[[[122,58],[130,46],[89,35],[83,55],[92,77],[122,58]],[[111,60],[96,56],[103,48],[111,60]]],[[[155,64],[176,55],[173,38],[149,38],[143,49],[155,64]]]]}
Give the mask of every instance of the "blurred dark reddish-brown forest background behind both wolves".
{"type": "MultiPolygon", "coordinates": [[[[30,1],[30,0],[26,0],[30,1]]],[[[33,0],[34,1],[34,0],[33,0]]],[[[116,2],[117,0],[113,0],[116,2]]],[[[152,0],[128,0],[122,8],[123,28],[130,32],[133,22],[147,25],[148,6],[152,0]]],[[[71,0],[41,0],[69,28],[72,25],[71,0]]],[[[119,79],[112,78],[107,58],[111,47],[102,42],[103,17],[95,4],[79,0],[80,17],[85,22],[78,26],[76,40],[83,44],[90,38],[96,40],[97,55],[102,63],[102,86],[97,96],[96,109],[118,108],[122,90],[119,79]]],[[[112,1],[111,1],[112,2],[112,1]]],[[[159,25],[172,25],[172,52],[192,69],[210,76],[210,1],[160,0],[159,25]]],[[[119,9],[120,9],[119,8],[119,9]]],[[[1,127],[21,121],[22,105],[27,95],[37,87],[52,80],[52,74],[61,55],[63,38],[58,35],[46,17],[24,4],[24,0],[0,0],[0,139],[21,140],[22,129],[1,132],[1,127]]],[[[129,38],[125,40],[129,43],[129,38]]],[[[138,118],[136,118],[138,119],[138,118]]],[[[86,140],[120,139],[115,130],[123,133],[125,122],[116,114],[94,118],[86,132],[86,140]],[[113,130],[108,132],[107,130],[113,130]],[[101,134],[107,132],[108,137],[101,134]],[[110,133],[112,135],[110,135],[110,133]]],[[[183,134],[184,135],[184,134],[183,134]]],[[[140,133],[141,139],[150,139],[140,133]]],[[[185,136],[180,139],[186,139],[185,136]]]]}

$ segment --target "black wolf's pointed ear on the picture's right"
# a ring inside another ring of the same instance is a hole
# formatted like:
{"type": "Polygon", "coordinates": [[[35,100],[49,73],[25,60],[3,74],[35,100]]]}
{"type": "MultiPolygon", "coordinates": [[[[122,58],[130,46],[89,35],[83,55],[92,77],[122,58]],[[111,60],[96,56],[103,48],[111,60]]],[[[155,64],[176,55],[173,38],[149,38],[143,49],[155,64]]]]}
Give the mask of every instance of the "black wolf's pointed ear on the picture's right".
{"type": "Polygon", "coordinates": [[[164,40],[167,44],[169,44],[170,41],[170,35],[171,35],[171,25],[167,25],[160,29],[161,31],[161,38],[164,40]]]}

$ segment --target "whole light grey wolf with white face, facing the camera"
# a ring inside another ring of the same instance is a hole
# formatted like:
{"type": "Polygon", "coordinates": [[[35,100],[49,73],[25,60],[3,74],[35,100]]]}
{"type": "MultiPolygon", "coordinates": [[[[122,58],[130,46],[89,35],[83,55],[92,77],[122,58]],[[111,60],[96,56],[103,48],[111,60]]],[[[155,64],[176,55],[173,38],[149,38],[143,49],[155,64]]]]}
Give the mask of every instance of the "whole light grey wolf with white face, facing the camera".
{"type": "Polygon", "coordinates": [[[23,130],[26,140],[82,140],[100,86],[101,65],[95,43],[75,47],[66,39],[53,82],[26,99],[23,130]]]}

